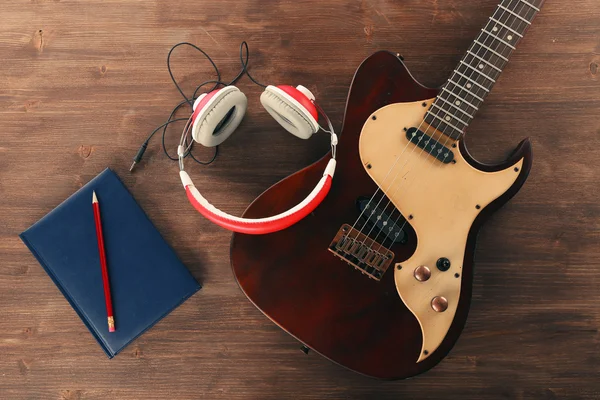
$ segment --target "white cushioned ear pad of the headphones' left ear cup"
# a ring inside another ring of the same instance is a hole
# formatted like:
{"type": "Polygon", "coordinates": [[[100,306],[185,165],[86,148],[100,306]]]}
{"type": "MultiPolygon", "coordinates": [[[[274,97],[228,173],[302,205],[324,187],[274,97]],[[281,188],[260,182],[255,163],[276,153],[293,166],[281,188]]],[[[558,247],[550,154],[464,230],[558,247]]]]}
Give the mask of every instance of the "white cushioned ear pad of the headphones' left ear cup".
{"type": "Polygon", "coordinates": [[[206,147],[223,143],[242,122],[248,99],[235,86],[219,90],[198,113],[192,126],[192,137],[206,147]]]}

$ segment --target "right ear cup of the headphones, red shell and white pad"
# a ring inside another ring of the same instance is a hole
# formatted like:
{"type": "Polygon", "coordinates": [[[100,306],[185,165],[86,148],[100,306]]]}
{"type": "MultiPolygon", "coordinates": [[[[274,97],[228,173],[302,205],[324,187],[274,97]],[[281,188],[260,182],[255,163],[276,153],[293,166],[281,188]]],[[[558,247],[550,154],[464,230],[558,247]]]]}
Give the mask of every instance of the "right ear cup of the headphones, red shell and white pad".
{"type": "MultiPolygon", "coordinates": [[[[308,89],[299,88],[312,96],[308,89]]],[[[260,102],[282,127],[301,139],[308,139],[319,130],[317,109],[308,95],[298,88],[269,85],[261,94],[260,102]]]]}

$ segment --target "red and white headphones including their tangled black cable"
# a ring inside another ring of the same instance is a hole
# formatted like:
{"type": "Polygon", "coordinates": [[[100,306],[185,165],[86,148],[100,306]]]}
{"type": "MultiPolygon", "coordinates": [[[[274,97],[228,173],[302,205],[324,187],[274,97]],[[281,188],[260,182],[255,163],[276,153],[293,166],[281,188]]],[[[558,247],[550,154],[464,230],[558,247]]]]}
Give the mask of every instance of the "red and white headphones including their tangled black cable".
{"type": "Polygon", "coordinates": [[[323,199],[325,199],[325,196],[327,196],[327,193],[329,193],[329,189],[331,188],[331,181],[335,171],[338,138],[333,129],[331,120],[327,117],[321,107],[315,103],[315,96],[310,90],[304,86],[263,85],[254,79],[248,71],[249,58],[250,51],[248,49],[248,44],[242,42],[240,44],[241,70],[231,82],[225,83],[221,80],[221,73],[215,62],[201,48],[188,42],[177,43],[171,47],[171,50],[167,55],[167,70],[169,71],[169,75],[171,76],[175,88],[183,97],[183,101],[171,111],[171,115],[167,119],[167,122],[154,129],[146,138],[133,158],[133,164],[131,165],[131,168],[129,168],[129,171],[133,171],[136,164],[141,161],[144,152],[148,147],[148,143],[155,133],[162,129],[163,151],[169,159],[179,161],[179,177],[181,178],[187,197],[192,205],[210,221],[223,228],[247,234],[266,234],[285,229],[295,224],[310,214],[323,199]],[[177,83],[177,80],[171,71],[171,54],[180,46],[188,46],[200,52],[210,62],[217,75],[216,80],[208,80],[201,83],[194,91],[191,99],[183,93],[183,90],[177,83]],[[331,135],[331,159],[325,168],[323,177],[317,183],[317,186],[295,207],[268,218],[239,218],[219,210],[200,194],[190,176],[185,172],[183,165],[184,159],[187,156],[190,156],[198,164],[208,165],[212,163],[217,157],[218,146],[231,136],[240,125],[244,118],[244,114],[246,113],[246,109],[248,108],[248,99],[246,98],[246,95],[237,87],[233,86],[233,84],[243,75],[247,75],[253,83],[265,89],[260,96],[260,102],[267,112],[288,132],[301,139],[310,138],[313,134],[317,133],[319,129],[331,135]],[[207,84],[214,85],[212,89],[196,97],[198,91],[207,84]],[[219,86],[222,87],[218,89],[219,86]],[[189,118],[174,119],[173,117],[177,110],[184,105],[191,106],[192,115],[189,118]],[[324,117],[328,129],[324,129],[319,125],[319,114],[324,117]],[[177,157],[172,157],[165,146],[165,135],[167,126],[177,121],[187,121],[187,123],[181,134],[179,146],[177,147],[177,157]],[[192,154],[194,143],[213,148],[214,155],[212,159],[206,162],[196,159],[192,154]]]}

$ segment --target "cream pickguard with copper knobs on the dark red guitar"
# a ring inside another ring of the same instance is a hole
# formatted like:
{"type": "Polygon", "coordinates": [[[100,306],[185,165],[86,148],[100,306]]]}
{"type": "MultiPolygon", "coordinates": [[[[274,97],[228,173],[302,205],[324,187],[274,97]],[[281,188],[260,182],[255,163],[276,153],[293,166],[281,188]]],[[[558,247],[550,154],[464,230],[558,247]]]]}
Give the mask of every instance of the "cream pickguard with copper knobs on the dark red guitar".
{"type": "MultiPolygon", "coordinates": [[[[367,173],[403,216],[410,216],[417,234],[415,253],[394,268],[398,293],[421,325],[423,346],[417,362],[439,347],[454,319],[473,221],[513,185],[523,165],[521,159],[505,170],[482,172],[465,161],[458,146],[451,147],[456,143],[452,139],[446,143],[456,160],[451,164],[410,143],[404,128],[418,127],[433,100],[391,104],[377,110],[365,123],[359,143],[367,173]],[[442,257],[450,261],[450,268],[443,272],[436,267],[442,257]],[[415,270],[421,266],[431,273],[424,281],[415,278],[415,270]],[[440,311],[444,300],[447,308],[440,311]]],[[[444,143],[446,137],[440,140],[444,143]]]]}

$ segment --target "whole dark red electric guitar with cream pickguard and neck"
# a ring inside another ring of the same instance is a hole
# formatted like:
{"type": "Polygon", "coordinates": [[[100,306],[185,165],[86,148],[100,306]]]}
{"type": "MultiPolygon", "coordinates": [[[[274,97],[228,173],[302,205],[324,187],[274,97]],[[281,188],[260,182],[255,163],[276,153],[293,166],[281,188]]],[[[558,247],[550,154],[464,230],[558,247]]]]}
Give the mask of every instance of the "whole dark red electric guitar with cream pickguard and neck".
{"type": "MultiPolygon", "coordinates": [[[[442,360],[465,324],[484,220],[524,184],[524,140],[499,165],[467,151],[465,130],[544,0],[503,0],[440,89],[399,55],[358,68],[324,202],[291,228],[234,234],[239,286],[282,329],[364,375],[402,379],[442,360]]],[[[328,156],[275,184],[244,216],[301,201],[328,156]]]]}

